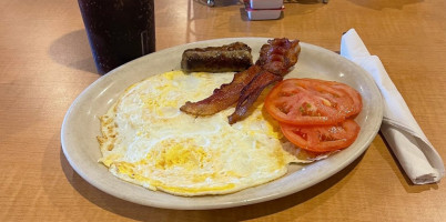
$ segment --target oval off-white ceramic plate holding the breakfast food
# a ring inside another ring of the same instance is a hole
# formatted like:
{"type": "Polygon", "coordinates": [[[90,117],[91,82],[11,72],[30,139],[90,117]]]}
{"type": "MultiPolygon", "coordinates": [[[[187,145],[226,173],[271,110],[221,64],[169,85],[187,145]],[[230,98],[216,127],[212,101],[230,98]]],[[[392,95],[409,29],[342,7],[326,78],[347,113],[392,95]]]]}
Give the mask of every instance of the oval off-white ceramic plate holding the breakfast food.
{"type": "Polygon", "coordinates": [[[149,75],[179,70],[181,56],[185,49],[222,46],[234,41],[249,44],[253,49],[255,61],[261,46],[266,43],[267,39],[216,39],[178,46],[123,64],[92,83],[75,99],[62,124],[62,149],[71,167],[95,188],[134,203],[182,210],[221,209],[264,202],[304,190],[344,169],[368,148],[383,118],[382,97],[373,79],[362,68],[343,57],[301,42],[302,52],[298,62],[286,78],[335,80],[352,85],[363,97],[364,108],[356,118],[362,130],[355,143],[348,149],[304,168],[291,165],[285,176],[260,186],[233,194],[195,198],[146,190],[115,178],[104,165],[98,163],[101,157],[95,139],[100,134],[98,117],[107,112],[124,89],[149,75]]]}

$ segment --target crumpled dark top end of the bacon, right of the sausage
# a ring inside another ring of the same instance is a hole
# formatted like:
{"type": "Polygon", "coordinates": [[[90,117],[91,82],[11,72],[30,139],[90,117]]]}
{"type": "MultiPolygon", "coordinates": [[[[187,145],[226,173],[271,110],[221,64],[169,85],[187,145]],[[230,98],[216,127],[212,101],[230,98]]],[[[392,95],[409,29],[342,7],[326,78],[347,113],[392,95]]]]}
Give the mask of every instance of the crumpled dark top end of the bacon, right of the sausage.
{"type": "Polygon", "coordinates": [[[285,75],[290,68],[297,62],[301,46],[298,40],[272,39],[263,44],[260,51],[260,58],[255,64],[261,65],[274,74],[285,75]]]}

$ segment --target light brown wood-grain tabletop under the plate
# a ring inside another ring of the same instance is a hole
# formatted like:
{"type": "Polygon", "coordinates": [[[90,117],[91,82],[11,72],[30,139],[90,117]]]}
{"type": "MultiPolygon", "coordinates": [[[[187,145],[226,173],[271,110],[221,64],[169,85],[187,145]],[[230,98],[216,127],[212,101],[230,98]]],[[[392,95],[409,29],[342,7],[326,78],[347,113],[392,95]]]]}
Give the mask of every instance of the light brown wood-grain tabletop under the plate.
{"type": "MultiPolygon", "coordinates": [[[[159,0],[158,50],[226,37],[287,37],[338,51],[355,28],[377,54],[446,160],[446,3],[315,0],[249,21],[236,1],[159,0]]],[[[60,129],[72,101],[100,78],[77,1],[0,1],[0,221],[446,221],[446,183],[413,185],[377,135],[345,170],[254,205],[175,211],[133,204],[78,175],[60,129]]]]}

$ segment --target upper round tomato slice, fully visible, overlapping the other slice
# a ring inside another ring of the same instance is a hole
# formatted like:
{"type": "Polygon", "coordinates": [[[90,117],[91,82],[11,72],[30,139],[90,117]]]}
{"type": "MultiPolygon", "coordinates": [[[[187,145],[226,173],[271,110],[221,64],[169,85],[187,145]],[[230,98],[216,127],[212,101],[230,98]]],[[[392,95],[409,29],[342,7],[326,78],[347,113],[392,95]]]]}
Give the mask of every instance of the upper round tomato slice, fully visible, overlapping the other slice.
{"type": "Polygon", "coordinates": [[[277,121],[296,125],[335,124],[362,109],[361,94],[338,82],[287,79],[265,99],[266,111],[277,121]]]}

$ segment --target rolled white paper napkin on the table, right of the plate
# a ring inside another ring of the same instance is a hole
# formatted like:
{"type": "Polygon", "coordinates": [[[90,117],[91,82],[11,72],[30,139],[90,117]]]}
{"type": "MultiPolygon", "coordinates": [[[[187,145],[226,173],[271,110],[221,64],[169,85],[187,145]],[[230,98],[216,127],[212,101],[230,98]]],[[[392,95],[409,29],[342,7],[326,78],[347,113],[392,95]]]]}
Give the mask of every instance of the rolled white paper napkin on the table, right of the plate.
{"type": "Polygon", "coordinates": [[[371,56],[354,29],[343,34],[341,56],[365,69],[379,88],[384,99],[381,132],[412,182],[438,182],[445,175],[442,158],[412,115],[379,58],[371,56]]]}

